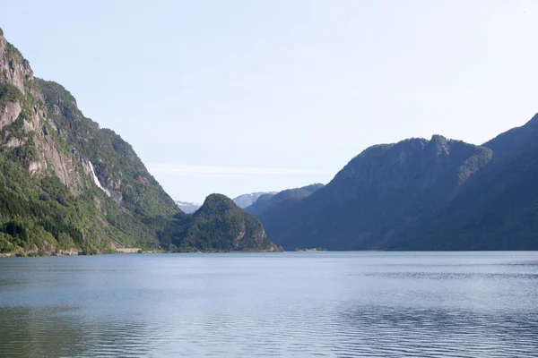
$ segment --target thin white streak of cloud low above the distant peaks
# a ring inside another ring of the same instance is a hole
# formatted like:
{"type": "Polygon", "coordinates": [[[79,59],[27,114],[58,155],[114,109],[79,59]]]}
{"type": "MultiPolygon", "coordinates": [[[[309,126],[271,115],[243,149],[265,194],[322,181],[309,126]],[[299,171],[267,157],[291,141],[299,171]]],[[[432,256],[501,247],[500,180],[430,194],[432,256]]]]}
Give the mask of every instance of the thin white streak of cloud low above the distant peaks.
{"type": "Polygon", "coordinates": [[[317,169],[282,168],[265,166],[189,166],[181,164],[150,164],[152,173],[178,176],[244,176],[244,175],[329,175],[317,169]]]}

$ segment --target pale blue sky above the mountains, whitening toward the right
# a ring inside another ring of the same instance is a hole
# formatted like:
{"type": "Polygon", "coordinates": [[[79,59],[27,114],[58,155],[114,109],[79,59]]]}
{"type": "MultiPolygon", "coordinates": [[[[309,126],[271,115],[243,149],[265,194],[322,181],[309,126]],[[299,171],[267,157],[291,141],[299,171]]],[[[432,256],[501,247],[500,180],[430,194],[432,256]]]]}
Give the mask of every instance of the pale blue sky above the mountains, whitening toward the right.
{"type": "Polygon", "coordinates": [[[536,0],[26,0],[0,27],[176,200],[328,183],[370,145],[481,144],[538,112],[536,0]]]}

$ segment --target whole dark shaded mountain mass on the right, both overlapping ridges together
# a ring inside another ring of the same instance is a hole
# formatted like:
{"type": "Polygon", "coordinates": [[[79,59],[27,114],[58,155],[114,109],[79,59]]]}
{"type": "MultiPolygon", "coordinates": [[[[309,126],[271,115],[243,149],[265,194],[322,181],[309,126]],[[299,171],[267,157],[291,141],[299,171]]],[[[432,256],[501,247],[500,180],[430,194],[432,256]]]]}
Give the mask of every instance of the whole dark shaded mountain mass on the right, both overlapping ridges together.
{"type": "Polygon", "coordinates": [[[259,216],[286,249],[538,249],[538,116],[482,146],[377,145],[303,200],[259,216]]]}

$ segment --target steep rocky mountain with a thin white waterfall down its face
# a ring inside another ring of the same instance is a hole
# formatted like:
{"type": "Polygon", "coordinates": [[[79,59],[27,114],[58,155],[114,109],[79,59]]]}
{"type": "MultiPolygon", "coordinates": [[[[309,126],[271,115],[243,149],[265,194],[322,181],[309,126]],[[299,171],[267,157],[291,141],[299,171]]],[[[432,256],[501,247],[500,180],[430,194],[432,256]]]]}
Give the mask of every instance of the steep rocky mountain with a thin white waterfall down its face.
{"type": "Polygon", "coordinates": [[[161,239],[187,235],[192,220],[126,141],[82,115],[61,85],[34,77],[0,30],[0,254],[167,247],[161,239]]]}

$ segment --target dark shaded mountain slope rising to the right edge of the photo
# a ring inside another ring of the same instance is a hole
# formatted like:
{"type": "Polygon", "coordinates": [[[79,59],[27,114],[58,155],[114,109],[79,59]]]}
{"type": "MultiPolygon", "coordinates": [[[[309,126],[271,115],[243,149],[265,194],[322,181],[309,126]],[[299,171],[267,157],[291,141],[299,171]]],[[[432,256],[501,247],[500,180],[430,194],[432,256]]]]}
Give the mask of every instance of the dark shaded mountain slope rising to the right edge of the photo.
{"type": "Polygon", "coordinates": [[[391,248],[538,250],[537,139],[535,115],[484,143],[490,163],[436,217],[408,228],[391,248]]]}

